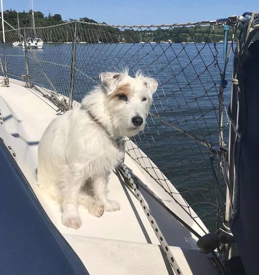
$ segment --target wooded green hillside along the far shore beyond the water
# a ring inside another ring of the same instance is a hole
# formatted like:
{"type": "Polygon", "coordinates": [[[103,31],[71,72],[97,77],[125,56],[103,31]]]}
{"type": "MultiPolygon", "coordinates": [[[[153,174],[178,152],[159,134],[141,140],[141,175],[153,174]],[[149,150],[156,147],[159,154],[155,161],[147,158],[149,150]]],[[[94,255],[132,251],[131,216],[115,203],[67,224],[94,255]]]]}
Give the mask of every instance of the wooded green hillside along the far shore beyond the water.
{"type": "MultiPolygon", "coordinates": [[[[53,25],[59,25],[68,20],[63,21],[61,15],[49,14],[47,17],[39,11],[34,12],[35,16],[35,25],[36,27],[47,27],[53,25]]],[[[32,10],[28,13],[25,11],[18,13],[19,17],[19,26],[20,28],[32,27],[32,10]]],[[[4,11],[4,19],[12,25],[14,28],[18,27],[17,21],[17,12],[15,10],[6,10],[4,11]]],[[[69,21],[74,21],[73,18],[69,18],[69,21]]],[[[89,23],[98,23],[93,19],[87,17],[79,18],[79,21],[89,22],[89,23]]],[[[105,22],[102,24],[106,25],[105,22]]],[[[8,29],[8,27],[7,27],[8,29]]],[[[232,29],[230,28],[231,37],[232,29]]],[[[44,41],[52,42],[71,42],[73,39],[72,30],[62,31],[62,34],[52,34],[48,33],[42,37],[44,41]],[[69,33],[69,34],[68,34],[69,33]],[[46,40],[47,39],[47,40],[46,40]]],[[[77,41],[85,41],[87,43],[139,43],[139,42],[219,42],[224,39],[224,31],[222,26],[179,26],[179,27],[170,27],[170,28],[157,28],[156,30],[152,29],[122,29],[114,28],[110,26],[101,26],[101,25],[84,25],[78,30],[77,41]],[[83,30],[84,29],[84,30],[83,30]],[[90,31],[91,29],[91,31],[90,31]],[[81,30],[81,31],[80,31],[81,30]],[[94,31],[93,31],[94,30],[94,31]]]]}

